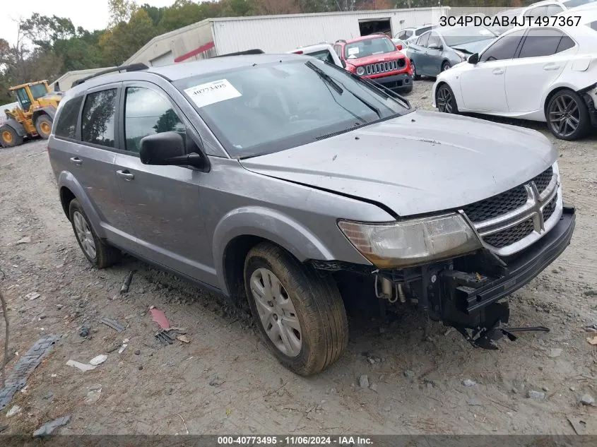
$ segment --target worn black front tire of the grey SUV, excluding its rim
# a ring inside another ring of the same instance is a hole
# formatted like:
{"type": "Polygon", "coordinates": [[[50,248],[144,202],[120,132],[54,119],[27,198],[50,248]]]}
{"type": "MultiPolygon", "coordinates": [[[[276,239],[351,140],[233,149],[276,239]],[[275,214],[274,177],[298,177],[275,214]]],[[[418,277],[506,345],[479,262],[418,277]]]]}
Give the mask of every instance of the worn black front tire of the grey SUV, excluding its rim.
{"type": "Polygon", "coordinates": [[[303,266],[278,246],[262,243],[247,254],[244,285],[261,336],[290,371],[301,376],[317,374],[341,356],[348,344],[348,320],[338,287],[331,278],[321,278],[313,268],[303,266]],[[295,357],[280,351],[261,323],[250,286],[252,274],[259,268],[266,268],[276,275],[295,308],[302,342],[295,357]]]}

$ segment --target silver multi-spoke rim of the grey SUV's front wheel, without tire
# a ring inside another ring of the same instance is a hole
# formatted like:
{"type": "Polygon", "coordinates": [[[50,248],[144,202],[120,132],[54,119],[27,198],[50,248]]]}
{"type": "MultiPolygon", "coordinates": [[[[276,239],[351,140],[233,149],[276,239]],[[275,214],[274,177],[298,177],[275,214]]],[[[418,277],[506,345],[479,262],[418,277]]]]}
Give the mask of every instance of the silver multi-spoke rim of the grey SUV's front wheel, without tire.
{"type": "Polygon", "coordinates": [[[256,269],[249,284],[269,339],[283,354],[297,357],[302,347],[301,327],[288,292],[267,268],[256,269]]]}

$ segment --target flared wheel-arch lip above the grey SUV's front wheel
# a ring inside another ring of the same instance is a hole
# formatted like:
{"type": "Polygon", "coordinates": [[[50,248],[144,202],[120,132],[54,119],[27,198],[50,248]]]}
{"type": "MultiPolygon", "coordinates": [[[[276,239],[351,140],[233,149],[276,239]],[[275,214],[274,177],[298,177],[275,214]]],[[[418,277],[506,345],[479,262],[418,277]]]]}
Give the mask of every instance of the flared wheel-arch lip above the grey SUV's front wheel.
{"type": "Polygon", "coordinates": [[[225,281],[224,252],[230,241],[239,236],[268,239],[288,250],[299,261],[333,260],[331,252],[315,234],[287,215],[260,206],[237,208],[222,217],[213,233],[214,266],[225,294],[229,290],[225,281]]]}

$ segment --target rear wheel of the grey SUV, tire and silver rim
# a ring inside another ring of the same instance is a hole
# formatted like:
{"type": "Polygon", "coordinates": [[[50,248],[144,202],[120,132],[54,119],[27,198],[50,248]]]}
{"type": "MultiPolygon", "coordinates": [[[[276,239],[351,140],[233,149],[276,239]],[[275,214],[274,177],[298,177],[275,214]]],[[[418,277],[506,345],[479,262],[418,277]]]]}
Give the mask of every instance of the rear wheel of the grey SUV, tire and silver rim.
{"type": "Polygon", "coordinates": [[[75,237],[85,258],[97,268],[112,266],[120,258],[120,251],[105,244],[93,231],[89,219],[81,207],[81,203],[73,198],[69,205],[69,217],[75,237]]]}

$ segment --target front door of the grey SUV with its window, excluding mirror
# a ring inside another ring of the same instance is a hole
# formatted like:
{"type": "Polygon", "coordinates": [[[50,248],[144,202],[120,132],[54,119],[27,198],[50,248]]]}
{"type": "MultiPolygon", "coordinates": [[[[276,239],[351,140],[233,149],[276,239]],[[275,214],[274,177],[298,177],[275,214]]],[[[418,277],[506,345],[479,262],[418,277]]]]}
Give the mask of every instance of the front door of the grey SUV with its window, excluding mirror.
{"type": "MultiPolygon", "coordinates": [[[[211,240],[205,236],[199,181],[204,174],[182,166],[143,165],[144,136],[175,131],[183,138],[189,124],[157,85],[127,82],[122,90],[122,153],[114,175],[138,239],[138,254],[196,280],[213,283],[211,240]]],[[[191,141],[189,141],[191,143],[191,141]]]]}

